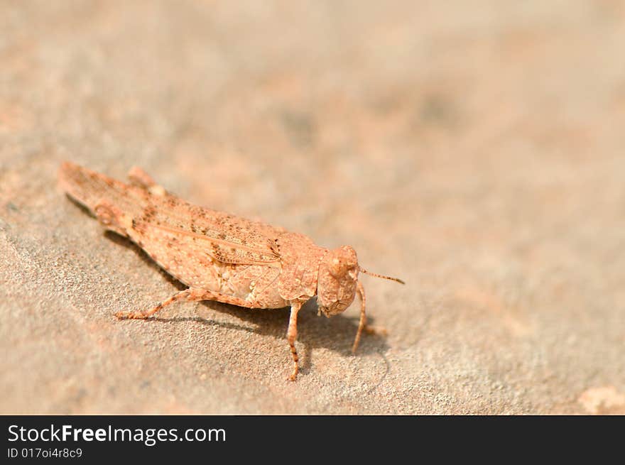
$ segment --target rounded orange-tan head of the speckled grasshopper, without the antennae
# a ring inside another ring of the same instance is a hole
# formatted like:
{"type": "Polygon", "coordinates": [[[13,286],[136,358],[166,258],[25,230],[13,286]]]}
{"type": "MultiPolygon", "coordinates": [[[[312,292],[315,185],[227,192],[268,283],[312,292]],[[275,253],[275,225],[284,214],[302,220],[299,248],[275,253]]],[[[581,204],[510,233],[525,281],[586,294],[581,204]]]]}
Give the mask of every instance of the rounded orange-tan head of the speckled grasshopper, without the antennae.
{"type": "Polygon", "coordinates": [[[350,246],[335,248],[323,258],[317,276],[317,303],[326,317],[343,312],[354,301],[358,259],[350,246]]]}

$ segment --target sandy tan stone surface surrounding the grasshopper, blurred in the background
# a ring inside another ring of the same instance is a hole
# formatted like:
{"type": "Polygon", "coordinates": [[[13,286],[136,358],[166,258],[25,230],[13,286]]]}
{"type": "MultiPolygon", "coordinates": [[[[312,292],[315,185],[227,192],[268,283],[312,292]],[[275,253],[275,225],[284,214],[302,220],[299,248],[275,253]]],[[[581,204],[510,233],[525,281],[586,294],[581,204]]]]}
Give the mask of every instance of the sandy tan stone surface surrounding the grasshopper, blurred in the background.
{"type": "Polygon", "coordinates": [[[0,15],[1,413],[625,413],[619,1],[28,1],[0,15]],[[131,4],[129,4],[131,3],[131,4]],[[350,244],[358,307],[181,288],[58,190],[140,165],[350,244]]]}

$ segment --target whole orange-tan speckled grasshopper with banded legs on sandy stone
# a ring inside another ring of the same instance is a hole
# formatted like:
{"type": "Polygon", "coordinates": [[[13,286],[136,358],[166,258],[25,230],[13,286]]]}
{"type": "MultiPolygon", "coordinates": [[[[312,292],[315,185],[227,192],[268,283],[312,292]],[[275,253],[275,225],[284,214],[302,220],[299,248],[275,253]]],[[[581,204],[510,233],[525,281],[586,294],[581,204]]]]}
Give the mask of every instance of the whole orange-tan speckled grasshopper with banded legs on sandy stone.
{"type": "Polygon", "coordinates": [[[130,184],[62,163],[60,185],[70,197],[84,204],[106,229],[121,234],[143,248],[161,268],[188,289],[178,292],[151,310],[117,312],[116,317],[144,319],[180,301],[216,300],[248,308],[290,306],[287,339],[298,374],[298,312],[317,295],[318,314],[343,312],[358,293],[360,322],[352,351],[356,351],[366,327],[364,288],[358,273],[370,273],[358,265],[350,246],[328,250],[307,236],[259,221],[216,212],[189,204],[171,195],[140,168],[129,172],[130,184]]]}

